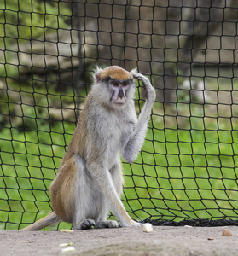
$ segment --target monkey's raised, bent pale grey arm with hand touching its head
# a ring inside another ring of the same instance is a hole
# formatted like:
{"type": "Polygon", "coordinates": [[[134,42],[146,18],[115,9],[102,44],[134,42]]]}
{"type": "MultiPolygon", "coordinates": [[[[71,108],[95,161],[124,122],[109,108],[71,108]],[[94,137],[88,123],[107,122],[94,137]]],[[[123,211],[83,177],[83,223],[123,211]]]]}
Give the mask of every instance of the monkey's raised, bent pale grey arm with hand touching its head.
{"type": "Polygon", "coordinates": [[[141,73],[133,73],[133,77],[142,81],[146,90],[146,102],[138,117],[136,125],[133,126],[132,133],[130,132],[130,134],[127,134],[125,144],[122,148],[122,157],[129,163],[136,160],[137,154],[142,148],[146,136],[148,120],[155,100],[155,91],[148,78],[141,73]]]}

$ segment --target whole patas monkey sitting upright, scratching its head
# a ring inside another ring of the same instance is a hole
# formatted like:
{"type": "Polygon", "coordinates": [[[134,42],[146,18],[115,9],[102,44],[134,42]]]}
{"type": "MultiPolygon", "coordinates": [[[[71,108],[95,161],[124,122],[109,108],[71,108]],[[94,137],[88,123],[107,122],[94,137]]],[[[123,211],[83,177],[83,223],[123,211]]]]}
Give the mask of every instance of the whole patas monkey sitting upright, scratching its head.
{"type": "Polygon", "coordinates": [[[97,67],[77,128],[49,188],[54,212],[23,230],[41,230],[60,221],[72,223],[73,230],[118,227],[115,220],[107,220],[110,210],[120,226],[140,225],[131,219],[120,200],[120,154],[129,163],[136,159],[154,99],[154,88],[136,70],[130,73],[118,66],[97,67]],[[133,79],[141,80],[146,91],[138,119],[133,79]]]}

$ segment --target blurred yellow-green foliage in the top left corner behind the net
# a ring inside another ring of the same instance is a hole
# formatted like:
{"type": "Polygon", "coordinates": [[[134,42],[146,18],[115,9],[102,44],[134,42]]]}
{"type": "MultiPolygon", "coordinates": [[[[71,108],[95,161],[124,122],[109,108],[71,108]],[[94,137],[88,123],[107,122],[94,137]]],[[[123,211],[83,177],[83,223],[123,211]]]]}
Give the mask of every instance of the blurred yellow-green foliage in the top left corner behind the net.
{"type": "Polygon", "coordinates": [[[24,42],[32,38],[44,38],[50,29],[67,27],[71,16],[67,2],[40,0],[5,0],[0,3],[0,47],[24,42]]]}

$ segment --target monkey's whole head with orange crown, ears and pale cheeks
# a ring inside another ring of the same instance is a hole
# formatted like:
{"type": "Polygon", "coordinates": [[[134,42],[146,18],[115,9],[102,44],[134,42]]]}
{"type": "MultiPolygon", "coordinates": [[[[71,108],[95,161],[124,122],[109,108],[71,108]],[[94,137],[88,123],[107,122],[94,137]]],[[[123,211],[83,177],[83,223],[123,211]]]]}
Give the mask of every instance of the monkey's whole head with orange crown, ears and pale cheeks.
{"type": "Polygon", "coordinates": [[[133,71],[128,72],[119,66],[110,66],[104,69],[97,67],[95,73],[96,84],[101,87],[104,100],[115,108],[122,108],[127,98],[133,98],[135,84],[133,71]]]}

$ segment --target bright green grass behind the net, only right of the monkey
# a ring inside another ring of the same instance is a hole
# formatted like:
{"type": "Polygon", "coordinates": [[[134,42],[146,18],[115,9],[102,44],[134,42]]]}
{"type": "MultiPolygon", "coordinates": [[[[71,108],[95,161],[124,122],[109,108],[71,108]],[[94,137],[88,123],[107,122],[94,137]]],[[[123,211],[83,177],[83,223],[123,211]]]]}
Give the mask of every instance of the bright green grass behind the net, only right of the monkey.
{"type": "Polygon", "coordinates": [[[132,209],[139,209],[136,215],[177,221],[235,217],[237,141],[223,136],[210,131],[209,142],[205,142],[200,131],[150,131],[141,156],[131,166],[136,176],[127,180],[130,187],[136,184],[135,189],[128,189],[134,193],[132,199],[138,199],[128,202],[132,209]],[[218,143],[222,139],[226,143],[218,143]]]}

